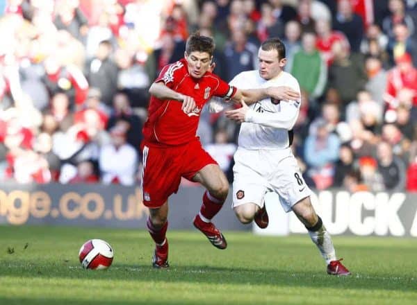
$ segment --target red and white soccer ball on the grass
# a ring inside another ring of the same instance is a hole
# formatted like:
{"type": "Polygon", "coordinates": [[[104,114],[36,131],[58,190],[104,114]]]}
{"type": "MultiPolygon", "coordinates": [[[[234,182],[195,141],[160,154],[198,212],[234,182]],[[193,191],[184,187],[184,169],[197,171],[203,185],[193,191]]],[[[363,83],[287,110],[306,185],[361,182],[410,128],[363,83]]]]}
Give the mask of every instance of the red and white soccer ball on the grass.
{"type": "Polygon", "coordinates": [[[113,261],[111,245],[101,239],[91,239],[85,242],[80,249],[80,263],[85,269],[107,269],[113,261]]]}

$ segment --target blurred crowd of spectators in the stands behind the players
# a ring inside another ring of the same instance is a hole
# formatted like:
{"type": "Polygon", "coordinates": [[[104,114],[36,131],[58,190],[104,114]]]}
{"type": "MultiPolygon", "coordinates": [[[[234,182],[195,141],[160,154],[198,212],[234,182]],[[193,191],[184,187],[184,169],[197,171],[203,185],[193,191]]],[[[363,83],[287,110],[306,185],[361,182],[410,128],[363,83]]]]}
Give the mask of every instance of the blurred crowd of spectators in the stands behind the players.
{"type": "MultiPolygon", "coordinates": [[[[316,189],[417,191],[417,0],[0,1],[0,181],[133,185],[148,89],[199,30],[215,73],[286,44],[302,88],[293,150],[316,189]]],[[[199,136],[232,179],[238,125],[199,136]]]]}

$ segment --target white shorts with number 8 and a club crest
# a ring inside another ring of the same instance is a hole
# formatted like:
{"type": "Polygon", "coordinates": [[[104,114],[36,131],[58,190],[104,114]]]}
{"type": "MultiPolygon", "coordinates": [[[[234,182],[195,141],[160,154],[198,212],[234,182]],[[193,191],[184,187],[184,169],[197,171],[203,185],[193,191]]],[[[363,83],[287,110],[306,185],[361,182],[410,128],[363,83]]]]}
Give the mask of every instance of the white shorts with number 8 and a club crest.
{"type": "Polygon", "coordinates": [[[263,207],[265,194],[275,192],[286,212],[311,195],[291,149],[247,150],[234,155],[233,207],[253,202],[263,207]]]}

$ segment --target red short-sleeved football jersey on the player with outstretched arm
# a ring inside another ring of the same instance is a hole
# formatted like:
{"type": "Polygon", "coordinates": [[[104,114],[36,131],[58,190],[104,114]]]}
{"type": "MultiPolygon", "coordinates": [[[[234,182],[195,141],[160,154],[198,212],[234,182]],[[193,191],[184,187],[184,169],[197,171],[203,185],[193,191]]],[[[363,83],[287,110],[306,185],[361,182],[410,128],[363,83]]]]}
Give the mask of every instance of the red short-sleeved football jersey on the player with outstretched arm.
{"type": "Polygon", "coordinates": [[[142,131],[148,144],[158,146],[178,146],[195,140],[204,104],[212,96],[231,97],[236,92],[213,73],[207,72],[202,78],[191,77],[185,59],[163,67],[155,82],[164,82],[170,89],[193,97],[196,103],[193,112],[186,114],[181,110],[182,102],[151,96],[148,119],[142,131]]]}

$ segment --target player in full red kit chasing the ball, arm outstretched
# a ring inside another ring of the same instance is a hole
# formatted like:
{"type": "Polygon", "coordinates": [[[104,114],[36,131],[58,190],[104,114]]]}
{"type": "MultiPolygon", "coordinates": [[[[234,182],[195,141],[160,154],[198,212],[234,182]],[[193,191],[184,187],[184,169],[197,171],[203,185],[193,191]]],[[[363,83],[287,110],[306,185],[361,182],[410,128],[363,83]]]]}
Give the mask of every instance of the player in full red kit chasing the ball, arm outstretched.
{"type": "Polygon", "coordinates": [[[165,66],[149,88],[152,95],[143,127],[142,196],[149,208],[147,229],[156,243],[152,264],[167,268],[168,197],[177,193],[181,177],[206,188],[194,225],[218,249],[227,242],[211,223],[229,192],[229,183],[196,136],[199,115],[212,96],[233,101],[259,101],[267,96],[298,98],[288,87],[240,90],[211,73],[214,42],[195,33],[188,37],[185,58],[165,66]]]}

